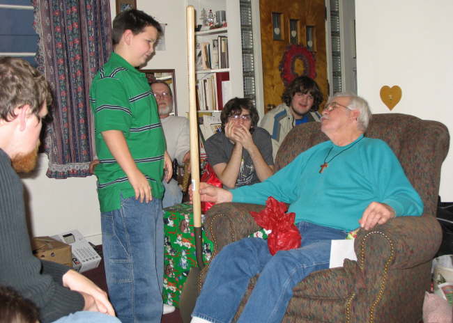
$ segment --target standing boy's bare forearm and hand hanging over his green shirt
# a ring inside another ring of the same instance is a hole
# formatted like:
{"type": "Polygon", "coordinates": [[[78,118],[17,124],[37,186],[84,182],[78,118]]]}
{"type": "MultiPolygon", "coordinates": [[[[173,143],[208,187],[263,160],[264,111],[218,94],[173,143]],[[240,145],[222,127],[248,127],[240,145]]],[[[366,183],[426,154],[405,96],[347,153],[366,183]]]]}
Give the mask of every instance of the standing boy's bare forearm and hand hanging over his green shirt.
{"type": "Polygon", "coordinates": [[[153,199],[151,185],[137,168],[132,155],[130,155],[123,132],[121,130],[107,130],[101,134],[113,157],[128,175],[129,182],[135,191],[135,199],[140,199],[140,203],[143,203],[143,201],[148,203],[153,199]]]}

